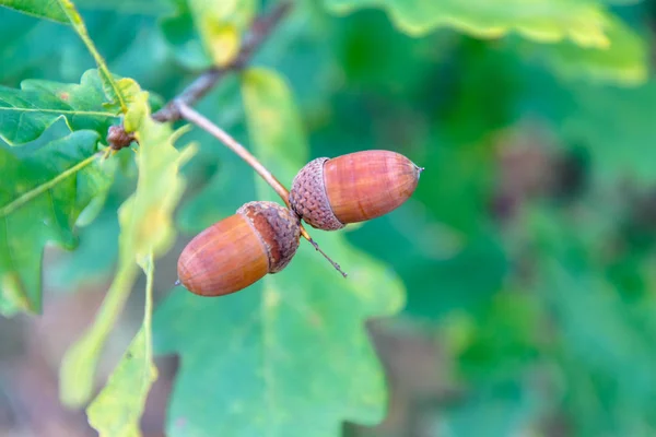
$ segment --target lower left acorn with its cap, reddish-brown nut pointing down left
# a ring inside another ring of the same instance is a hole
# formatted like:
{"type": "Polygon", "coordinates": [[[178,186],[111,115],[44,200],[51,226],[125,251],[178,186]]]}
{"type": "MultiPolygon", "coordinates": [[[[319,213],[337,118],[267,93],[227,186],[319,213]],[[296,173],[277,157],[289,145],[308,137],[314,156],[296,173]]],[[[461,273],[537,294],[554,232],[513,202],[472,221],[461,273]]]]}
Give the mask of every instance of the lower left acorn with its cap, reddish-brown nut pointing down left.
{"type": "Polygon", "coordinates": [[[178,281],[201,296],[238,292],[284,269],[300,237],[300,220],[286,208],[246,203],[189,241],[178,259],[178,281]]]}

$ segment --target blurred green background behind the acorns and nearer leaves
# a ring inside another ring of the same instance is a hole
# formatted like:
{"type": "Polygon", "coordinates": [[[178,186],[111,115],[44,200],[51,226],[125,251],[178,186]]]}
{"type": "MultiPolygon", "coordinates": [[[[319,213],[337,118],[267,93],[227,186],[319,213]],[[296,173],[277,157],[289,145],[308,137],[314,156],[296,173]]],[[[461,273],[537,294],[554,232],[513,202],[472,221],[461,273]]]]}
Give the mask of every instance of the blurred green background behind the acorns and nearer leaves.
{"type": "MultiPolygon", "coordinates": [[[[179,23],[162,24],[166,2],[79,4],[110,70],[163,98],[202,67],[179,23]]],[[[345,436],[656,435],[656,3],[609,11],[624,24],[606,52],[515,33],[409,36],[384,11],[305,1],[255,58],[286,76],[313,157],[387,149],[426,168],[402,208],[345,231],[407,288],[400,315],[370,324],[388,416],[345,436]]],[[[78,82],[93,66],[70,29],[5,9],[0,42],[8,86],[78,82]]],[[[235,78],[198,108],[248,143],[235,78]]],[[[185,238],[244,201],[218,149],[187,168],[186,235],[159,269],[160,297],[185,238]],[[226,185],[234,198],[208,206],[226,185]]],[[[90,435],[58,405],[56,369],[112,276],[115,211],[133,184],[115,184],[77,251],[47,253],[46,315],[0,320],[0,435],[90,435]]],[[[160,364],[147,435],[162,433],[175,374],[160,364]]]]}

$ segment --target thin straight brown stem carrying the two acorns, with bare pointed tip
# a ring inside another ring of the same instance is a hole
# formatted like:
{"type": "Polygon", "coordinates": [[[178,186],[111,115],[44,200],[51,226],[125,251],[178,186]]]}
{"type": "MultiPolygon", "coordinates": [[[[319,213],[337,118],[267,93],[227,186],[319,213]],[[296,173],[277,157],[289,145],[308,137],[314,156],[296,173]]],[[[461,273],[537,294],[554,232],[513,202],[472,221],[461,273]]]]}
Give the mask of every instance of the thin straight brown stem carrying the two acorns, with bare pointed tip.
{"type": "MultiPolygon", "coordinates": [[[[219,126],[213,123],[210,119],[206,118],[202,114],[198,113],[196,109],[187,105],[184,101],[174,101],[173,104],[177,108],[180,117],[196,126],[206,132],[210,133],[212,137],[216,138],[223,144],[225,144],[231,151],[233,151],[237,156],[246,162],[253,169],[265,179],[271,188],[280,196],[283,200],[284,204],[290,208],[290,191],[265,167],[257,158],[246,150],[242,144],[237,142],[234,138],[231,137],[230,133],[221,129],[219,126]]],[[[339,264],[330,257],[326,255],[317,243],[312,239],[303,224],[301,224],[301,235],[305,238],[319,253],[324,256],[332,264],[332,267],[341,273],[342,276],[347,277],[347,273],[344,273],[339,264]]]]}

